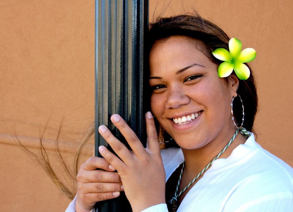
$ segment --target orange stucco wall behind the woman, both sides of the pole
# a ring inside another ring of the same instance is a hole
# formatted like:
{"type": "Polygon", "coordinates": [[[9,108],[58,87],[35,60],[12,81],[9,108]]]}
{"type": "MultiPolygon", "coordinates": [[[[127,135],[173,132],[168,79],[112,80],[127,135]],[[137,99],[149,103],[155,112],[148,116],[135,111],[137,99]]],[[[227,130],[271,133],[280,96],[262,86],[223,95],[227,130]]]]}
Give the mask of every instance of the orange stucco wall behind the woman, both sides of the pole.
{"type": "MultiPolygon", "coordinates": [[[[170,1],[150,0],[150,19],[170,1]],[[155,12],[154,12],[155,11],[155,12]]],[[[172,1],[165,16],[196,9],[243,47],[257,51],[258,143],[293,166],[291,139],[293,2],[290,0],[172,1]]],[[[0,211],[65,211],[46,173],[15,145],[36,152],[43,132],[79,140],[94,116],[94,1],[0,1],[0,211]]],[[[64,151],[65,152],[65,151],[64,151]]],[[[68,158],[72,153],[68,153],[68,158]]],[[[61,169],[62,170],[62,169],[61,169]]],[[[62,175],[62,171],[60,171],[62,175]]]]}

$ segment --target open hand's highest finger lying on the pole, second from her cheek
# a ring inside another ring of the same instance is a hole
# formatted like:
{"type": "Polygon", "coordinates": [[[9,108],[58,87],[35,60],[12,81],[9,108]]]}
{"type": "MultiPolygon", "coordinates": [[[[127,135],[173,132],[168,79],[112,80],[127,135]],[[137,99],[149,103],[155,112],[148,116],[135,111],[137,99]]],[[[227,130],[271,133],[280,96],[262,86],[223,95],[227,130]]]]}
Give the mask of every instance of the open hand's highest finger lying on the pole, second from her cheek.
{"type": "Polygon", "coordinates": [[[142,146],[142,143],[136,136],[135,132],[133,132],[133,130],[121,118],[121,116],[119,116],[118,114],[114,114],[111,116],[111,121],[118,128],[121,134],[124,136],[124,138],[126,139],[127,143],[131,147],[134,154],[141,155],[145,153],[144,147],[142,146]]]}

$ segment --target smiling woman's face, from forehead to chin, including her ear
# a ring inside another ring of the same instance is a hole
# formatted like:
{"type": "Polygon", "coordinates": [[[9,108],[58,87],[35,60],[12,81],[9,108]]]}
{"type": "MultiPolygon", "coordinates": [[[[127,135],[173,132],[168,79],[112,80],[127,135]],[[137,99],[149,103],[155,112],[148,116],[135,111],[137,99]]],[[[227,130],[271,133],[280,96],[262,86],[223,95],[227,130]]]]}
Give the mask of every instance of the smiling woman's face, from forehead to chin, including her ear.
{"type": "Polygon", "coordinates": [[[196,42],[173,36],[156,42],[150,52],[152,112],[184,149],[203,147],[234,131],[230,105],[238,79],[219,78],[218,65],[196,42]]]}

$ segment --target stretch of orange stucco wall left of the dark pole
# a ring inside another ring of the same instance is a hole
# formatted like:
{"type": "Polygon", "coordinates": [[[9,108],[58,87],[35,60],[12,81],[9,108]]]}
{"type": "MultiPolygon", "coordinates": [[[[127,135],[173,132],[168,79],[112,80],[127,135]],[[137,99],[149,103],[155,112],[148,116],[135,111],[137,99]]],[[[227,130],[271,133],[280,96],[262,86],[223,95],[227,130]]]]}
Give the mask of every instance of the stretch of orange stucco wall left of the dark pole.
{"type": "Polygon", "coordinates": [[[10,136],[37,153],[49,120],[44,138],[60,168],[52,149],[61,121],[60,139],[75,142],[94,117],[94,21],[94,1],[0,1],[1,212],[65,211],[71,202],[10,136]]]}

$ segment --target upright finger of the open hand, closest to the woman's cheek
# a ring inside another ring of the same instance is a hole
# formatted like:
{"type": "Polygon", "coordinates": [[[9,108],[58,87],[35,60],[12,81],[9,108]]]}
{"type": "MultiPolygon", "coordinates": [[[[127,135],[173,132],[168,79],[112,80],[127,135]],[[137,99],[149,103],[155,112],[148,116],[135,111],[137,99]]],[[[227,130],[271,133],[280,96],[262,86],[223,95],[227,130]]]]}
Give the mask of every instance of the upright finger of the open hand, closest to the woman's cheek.
{"type": "Polygon", "coordinates": [[[160,152],[160,145],[158,140],[158,133],[155,127],[155,121],[151,112],[146,113],[146,134],[147,134],[147,147],[151,152],[160,152]]]}

